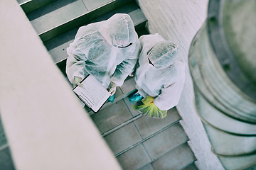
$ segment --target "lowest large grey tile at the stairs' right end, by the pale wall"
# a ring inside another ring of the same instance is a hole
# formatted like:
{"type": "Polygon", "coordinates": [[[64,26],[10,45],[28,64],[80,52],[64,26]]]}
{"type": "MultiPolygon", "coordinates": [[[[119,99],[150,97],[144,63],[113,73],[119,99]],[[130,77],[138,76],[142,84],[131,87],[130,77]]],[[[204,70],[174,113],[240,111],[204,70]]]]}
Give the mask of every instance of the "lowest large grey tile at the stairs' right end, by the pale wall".
{"type": "Polygon", "coordinates": [[[196,157],[185,143],[164,154],[163,157],[153,162],[152,166],[155,170],[181,169],[195,160],[196,157]]]}

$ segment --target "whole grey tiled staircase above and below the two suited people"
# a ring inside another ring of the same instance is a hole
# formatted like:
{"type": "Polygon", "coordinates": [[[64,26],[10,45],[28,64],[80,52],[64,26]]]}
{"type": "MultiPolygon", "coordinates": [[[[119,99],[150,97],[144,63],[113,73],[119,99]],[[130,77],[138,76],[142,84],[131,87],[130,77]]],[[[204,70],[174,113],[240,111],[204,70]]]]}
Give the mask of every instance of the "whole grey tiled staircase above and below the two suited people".
{"type": "MultiPolygon", "coordinates": [[[[139,36],[149,33],[142,10],[132,0],[18,0],[18,4],[65,77],[65,50],[80,26],[128,13],[139,36]]],[[[176,108],[163,120],[139,115],[128,98],[135,90],[134,78],[128,77],[117,88],[114,103],[105,103],[98,113],[85,107],[123,169],[197,169],[176,108]]],[[[0,169],[15,169],[1,122],[0,137],[0,169]]]]}

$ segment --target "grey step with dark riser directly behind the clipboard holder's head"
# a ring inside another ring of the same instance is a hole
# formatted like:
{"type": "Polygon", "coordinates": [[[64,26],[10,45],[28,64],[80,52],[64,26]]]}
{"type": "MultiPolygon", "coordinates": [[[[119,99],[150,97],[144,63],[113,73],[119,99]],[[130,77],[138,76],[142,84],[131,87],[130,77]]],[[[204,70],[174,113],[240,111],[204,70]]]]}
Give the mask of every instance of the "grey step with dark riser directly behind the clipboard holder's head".
{"type": "MultiPolygon", "coordinates": [[[[144,16],[144,13],[139,8],[139,6],[137,6],[137,4],[134,2],[126,4],[125,6],[117,8],[114,11],[106,13],[103,16],[95,18],[94,20],[90,21],[90,23],[107,20],[112,15],[114,15],[114,13],[128,13],[129,16],[131,16],[132,21],[134,22],[135,30],[137,31],[139,36],[149,33],[145,28],[147,22],[146,17],[144,16]]],[[[85,25],[87,24],[88,23],[85,23],[85,25]]],[[[44,45],[48,49],[48,52],[53,57],[53,61],[58,65],[64,75],[66,59],[68,57],[66,49],[70,45],[70,43],[73,42],[78,28],[74,28],[73,30],[70,30],[62,35],[59,35],[51,40],[44,42],[44,45]]]]}

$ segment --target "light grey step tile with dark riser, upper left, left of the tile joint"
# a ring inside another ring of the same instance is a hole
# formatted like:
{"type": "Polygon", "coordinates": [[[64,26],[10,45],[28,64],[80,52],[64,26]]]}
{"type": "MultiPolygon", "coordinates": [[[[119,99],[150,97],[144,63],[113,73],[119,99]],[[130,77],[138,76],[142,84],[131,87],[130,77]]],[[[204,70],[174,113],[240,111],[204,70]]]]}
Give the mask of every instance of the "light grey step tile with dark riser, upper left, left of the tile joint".
{"type": "Polygon", "coordinates": [[[39,10],[28,13],[28,18],[39,34],[84,13],[87,13],[87,9],[82,0],[54,1],[52,4],[48,4],[39,10]]]}

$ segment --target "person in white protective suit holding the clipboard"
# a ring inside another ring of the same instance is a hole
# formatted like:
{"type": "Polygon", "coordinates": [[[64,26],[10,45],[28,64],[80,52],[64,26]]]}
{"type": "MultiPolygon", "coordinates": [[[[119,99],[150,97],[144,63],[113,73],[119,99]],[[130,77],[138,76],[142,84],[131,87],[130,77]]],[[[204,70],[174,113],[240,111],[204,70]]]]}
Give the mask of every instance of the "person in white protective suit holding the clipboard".
{"type": "Polygon", "coordinates": [[[138,35],[130,16],[117,13],[80,27],[67,52],[66,73],[73,86],[82,86],[80,81],[92,74],[114,96],[137,62],[138,35]]]}

